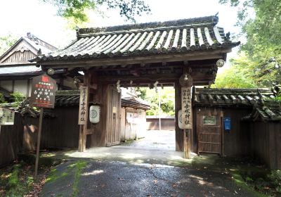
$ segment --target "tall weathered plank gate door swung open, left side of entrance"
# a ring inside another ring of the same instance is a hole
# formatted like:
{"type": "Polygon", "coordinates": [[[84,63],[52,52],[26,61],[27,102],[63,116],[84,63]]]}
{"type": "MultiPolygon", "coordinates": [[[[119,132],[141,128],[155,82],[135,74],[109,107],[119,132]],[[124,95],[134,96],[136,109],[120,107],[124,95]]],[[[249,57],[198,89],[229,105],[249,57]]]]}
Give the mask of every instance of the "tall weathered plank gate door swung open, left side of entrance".
{"type": "Polygon", "coordinates": [[[109,87],[107,98],[107,135],[106,146],[120,144],[120,108],[121,94],[117,92],[116,87],[109,87]]]}

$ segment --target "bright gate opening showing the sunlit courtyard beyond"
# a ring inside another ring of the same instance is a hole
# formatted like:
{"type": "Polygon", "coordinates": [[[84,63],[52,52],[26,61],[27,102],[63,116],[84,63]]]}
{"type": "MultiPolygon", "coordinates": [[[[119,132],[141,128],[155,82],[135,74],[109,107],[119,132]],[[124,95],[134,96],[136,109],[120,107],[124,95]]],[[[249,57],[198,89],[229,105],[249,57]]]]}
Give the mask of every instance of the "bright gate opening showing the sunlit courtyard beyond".
{"type": "Polygon", "coordinates": [[[132,149],[175,151],[175,89],[174,87],[122,88],[122,98],[136,96],[138,103],[149,106],[145,110],[122,106],[122,145],[132,149]],[[128,143],[128,141],[130,143],[128,143]]]}

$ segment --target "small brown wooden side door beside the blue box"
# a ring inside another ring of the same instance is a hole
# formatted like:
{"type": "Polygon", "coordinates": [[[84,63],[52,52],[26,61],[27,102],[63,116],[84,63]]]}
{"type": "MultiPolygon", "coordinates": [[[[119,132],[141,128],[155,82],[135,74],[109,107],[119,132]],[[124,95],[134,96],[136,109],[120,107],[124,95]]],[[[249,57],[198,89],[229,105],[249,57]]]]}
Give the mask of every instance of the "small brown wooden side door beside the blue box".
{"type": "Polygon", "coordinates": [[[221,154],[221,115],[197,113],[197,153],[221,154]]]}

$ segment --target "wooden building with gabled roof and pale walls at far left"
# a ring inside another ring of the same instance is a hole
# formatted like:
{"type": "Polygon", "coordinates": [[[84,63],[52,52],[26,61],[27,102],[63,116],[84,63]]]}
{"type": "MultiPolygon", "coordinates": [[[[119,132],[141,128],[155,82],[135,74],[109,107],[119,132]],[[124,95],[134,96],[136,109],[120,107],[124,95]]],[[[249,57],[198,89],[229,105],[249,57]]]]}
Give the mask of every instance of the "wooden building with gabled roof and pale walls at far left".
{"type": "MultiPolygon", "coordinates": [[[[15,91],[29,97],[32,77],[44,73],[36,62],[30,63],[29,60],[56,49],[55,46],[44,42],[33,34],[27,33],[26,37],[21,37],[0,56],[0,92],[6,98],[9,98],[10,94],[15,91]]],[[[63,77],[64,72],[64,70],[57,70],[53,76],[58,82],[59,89],[76,88],[71,77],[63,77]]]]}

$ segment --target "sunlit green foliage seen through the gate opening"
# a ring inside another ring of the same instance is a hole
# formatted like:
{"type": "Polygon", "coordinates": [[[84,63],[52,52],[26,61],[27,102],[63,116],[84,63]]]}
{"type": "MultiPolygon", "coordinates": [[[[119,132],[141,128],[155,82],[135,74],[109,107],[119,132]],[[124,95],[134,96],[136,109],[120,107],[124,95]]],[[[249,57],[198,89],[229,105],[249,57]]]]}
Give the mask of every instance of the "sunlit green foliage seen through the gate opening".
{"type": "Polygon", "coordinates": [[[169,115],[174,116],[174,103],[175,103],[175,93],[173,87],[164,87],[164,89],[158,88],[160,91],[160,112],[159,112],[159,103],[158,103],[158,93],[155,92],[155,89],[148,88],[138,88],[136,89],[138,96],[143,98],[143,100],[150,103],[150,110],[146,111],[146,115],[169,115]],[[160,114],[159,114],[160,113],[160,114]]]}

